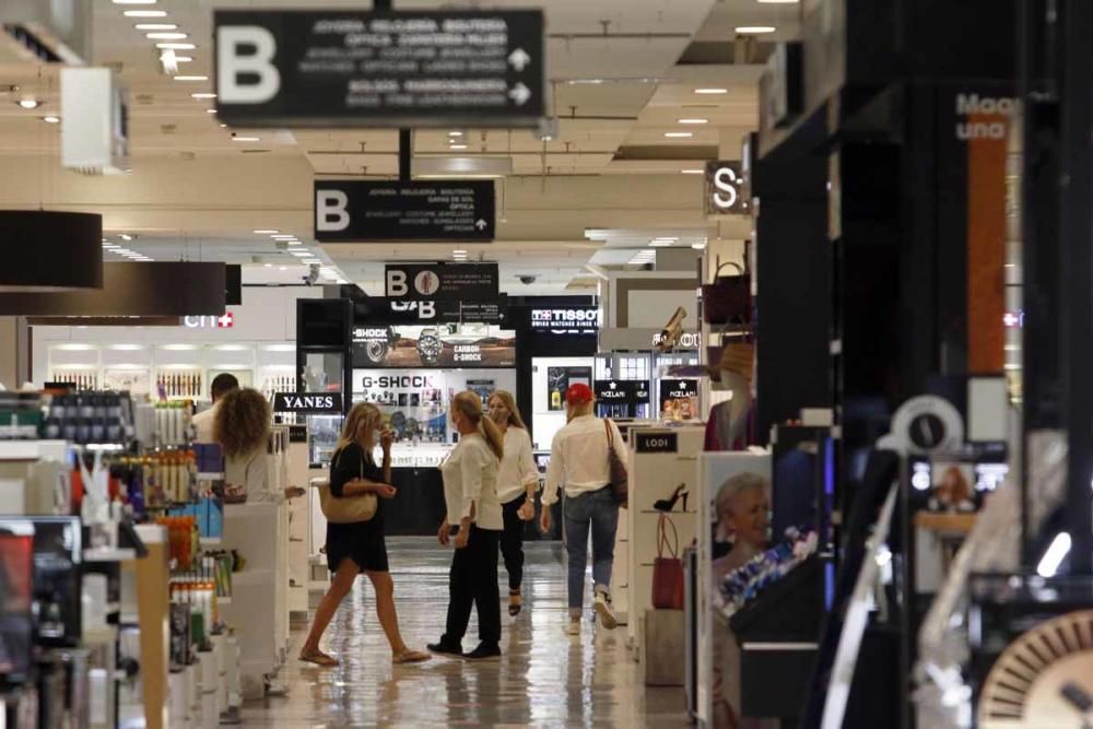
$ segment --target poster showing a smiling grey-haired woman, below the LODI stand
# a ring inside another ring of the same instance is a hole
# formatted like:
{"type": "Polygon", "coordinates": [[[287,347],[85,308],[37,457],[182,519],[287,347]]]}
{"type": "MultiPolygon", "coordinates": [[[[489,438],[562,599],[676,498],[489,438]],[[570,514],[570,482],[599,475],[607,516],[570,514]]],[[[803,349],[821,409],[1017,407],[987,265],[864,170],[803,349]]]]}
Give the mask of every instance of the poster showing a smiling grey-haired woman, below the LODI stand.
{"type": "Polygon", "coordinates": [[[738,726],[736,639],[721,611],[720,584],[771,539],[771,458],[741,452],[698,457],[702,489],[698,569],[698,718],[715,729],[738,726]]]}

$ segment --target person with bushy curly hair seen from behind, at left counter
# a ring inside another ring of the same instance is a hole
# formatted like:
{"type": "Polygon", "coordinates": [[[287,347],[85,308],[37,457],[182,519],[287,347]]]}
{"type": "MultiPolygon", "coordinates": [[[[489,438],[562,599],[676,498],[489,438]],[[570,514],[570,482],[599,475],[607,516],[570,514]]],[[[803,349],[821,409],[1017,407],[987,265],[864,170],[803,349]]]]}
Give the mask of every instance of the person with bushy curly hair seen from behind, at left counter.
{"type": "Polygon", "coordinates": [[[303,496],[287,486],[272,491],[269,483],[270,403],[258,390],[236,388],[220,399],[213,421],[213,440],[224,450],[224,492],[237,501],[280,502],[303,496]]]}

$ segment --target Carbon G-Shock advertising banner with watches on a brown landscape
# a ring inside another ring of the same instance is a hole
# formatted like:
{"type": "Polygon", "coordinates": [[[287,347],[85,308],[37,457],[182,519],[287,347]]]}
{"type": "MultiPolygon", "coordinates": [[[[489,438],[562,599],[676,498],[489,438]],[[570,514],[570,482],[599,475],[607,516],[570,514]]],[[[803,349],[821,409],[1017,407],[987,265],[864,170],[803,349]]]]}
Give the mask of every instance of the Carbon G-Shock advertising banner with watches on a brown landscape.
{"type": "Polygon", "coordinates": [[[514,367],[515,332],[453,333],[448,327],[356,327],[355,367],[514,367]]]}

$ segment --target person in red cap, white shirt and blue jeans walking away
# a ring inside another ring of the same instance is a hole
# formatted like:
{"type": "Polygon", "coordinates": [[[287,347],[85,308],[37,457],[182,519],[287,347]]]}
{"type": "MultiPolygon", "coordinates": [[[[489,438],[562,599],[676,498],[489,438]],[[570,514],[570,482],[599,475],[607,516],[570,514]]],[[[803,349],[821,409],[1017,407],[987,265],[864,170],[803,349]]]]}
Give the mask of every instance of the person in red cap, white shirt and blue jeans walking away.
{"type": "Polygon", "coordinates": [[[550,506],[557,501],[559,489],[565,486],[563,516],[569,563],[571,635],[580,634],[589,532],[592,536],[592,604],[603,627],[618,625],[611,611],[611,565],[619,530],[619,505],[611,490],[609,434],[615,452],[625,454],[626,444],[614,422],[604,422],[592,414],[593,404],[592,390],[587,385],[571,385],[565,392],[568,423],[557,432],[551,445],[540,517],[543,531],[550,531],[550,506]]]}

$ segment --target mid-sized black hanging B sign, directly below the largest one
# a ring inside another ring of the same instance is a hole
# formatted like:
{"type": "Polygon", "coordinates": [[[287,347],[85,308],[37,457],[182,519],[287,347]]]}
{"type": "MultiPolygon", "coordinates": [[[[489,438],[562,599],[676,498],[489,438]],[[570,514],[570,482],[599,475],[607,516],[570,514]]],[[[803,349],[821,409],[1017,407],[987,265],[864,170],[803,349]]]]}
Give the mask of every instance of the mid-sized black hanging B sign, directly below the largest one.
{"type": "Polygon", "coordinates": [[[493,180],[316,180],[320,243],[489,243],[496,224],[493,180]]]}

